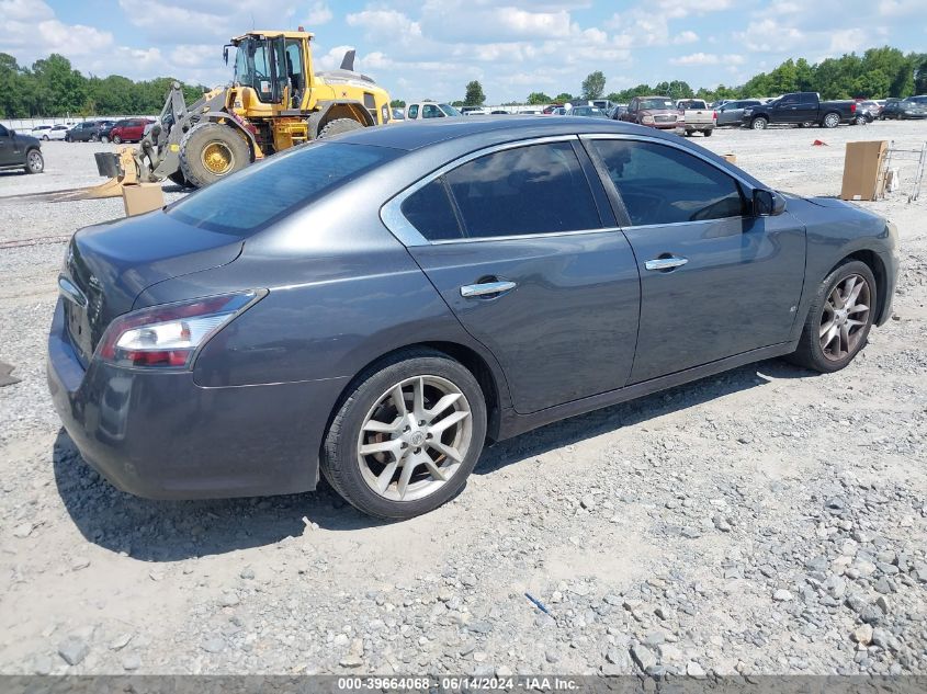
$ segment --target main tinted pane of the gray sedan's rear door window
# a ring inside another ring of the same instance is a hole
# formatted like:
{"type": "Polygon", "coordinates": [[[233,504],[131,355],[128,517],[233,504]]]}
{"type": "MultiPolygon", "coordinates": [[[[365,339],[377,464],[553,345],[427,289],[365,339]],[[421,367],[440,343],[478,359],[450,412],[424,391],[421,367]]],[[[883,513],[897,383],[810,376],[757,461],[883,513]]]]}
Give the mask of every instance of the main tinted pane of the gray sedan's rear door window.
{"type": "Polygon", "coordinates": [[[589,182],[569,143],[486,155],[446,174],[468,237],[597,229],[589,182]]]}

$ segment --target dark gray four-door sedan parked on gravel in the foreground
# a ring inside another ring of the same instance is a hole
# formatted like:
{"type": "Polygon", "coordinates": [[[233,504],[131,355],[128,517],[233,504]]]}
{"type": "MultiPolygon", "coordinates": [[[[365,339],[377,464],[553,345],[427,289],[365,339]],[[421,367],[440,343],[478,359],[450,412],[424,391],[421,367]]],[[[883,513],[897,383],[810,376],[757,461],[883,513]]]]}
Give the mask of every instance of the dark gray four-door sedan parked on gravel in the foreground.
{"type": "Polygon", "coordinates": [[[896,269],[879,216],[653,128],[364,128],[78,231],[48,382],[121,489],[324,475],[406,519],[460,492],[487,441],[768,357],[843,368],[896,269]]]}

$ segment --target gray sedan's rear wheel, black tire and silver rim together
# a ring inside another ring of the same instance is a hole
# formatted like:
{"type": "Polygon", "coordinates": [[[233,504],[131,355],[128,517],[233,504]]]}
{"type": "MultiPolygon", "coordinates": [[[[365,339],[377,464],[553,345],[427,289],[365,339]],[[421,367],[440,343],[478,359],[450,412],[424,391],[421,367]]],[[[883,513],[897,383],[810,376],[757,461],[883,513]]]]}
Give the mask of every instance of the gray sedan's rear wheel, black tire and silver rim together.
{"type": "Polygon", "coordinates": [[[404,350],[357,378],[329,426],[321,473],[358,510],[410,519],[460,492],[485,439],[473,374],[442,352],[404,350]]]}

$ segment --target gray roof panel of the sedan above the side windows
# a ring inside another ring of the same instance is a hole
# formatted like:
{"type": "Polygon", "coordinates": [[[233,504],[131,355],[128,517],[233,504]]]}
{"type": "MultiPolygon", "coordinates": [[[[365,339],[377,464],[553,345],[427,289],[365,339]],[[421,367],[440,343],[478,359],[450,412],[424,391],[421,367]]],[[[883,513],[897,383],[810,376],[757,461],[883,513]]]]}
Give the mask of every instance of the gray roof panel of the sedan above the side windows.
{"type": "MultiPolygon", "coordinates": [[[[654,128],[618,121],[590,121],[581,116],[549,118],[541,115],[487,116],[485,118],[434,118],[420,123],[397,123],[389,127],[352,130],[338,139],[342,143],[374,145],[412,151],[441,143],[477,140],[477,147],[494,143],[515,141],[535,137],[576,135],[578,133],[626,133],[659,137],[654,128]]],[[[669,136],[665,136],[669,138],[669,136]]]]}

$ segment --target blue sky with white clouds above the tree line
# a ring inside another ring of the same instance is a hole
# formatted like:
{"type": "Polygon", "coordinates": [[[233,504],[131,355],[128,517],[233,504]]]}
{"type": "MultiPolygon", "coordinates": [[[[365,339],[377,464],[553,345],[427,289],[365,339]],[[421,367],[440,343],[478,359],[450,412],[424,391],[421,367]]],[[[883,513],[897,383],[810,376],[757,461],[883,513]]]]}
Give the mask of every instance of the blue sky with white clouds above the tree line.
{"type": "Polygon", "coordinates": [[[57,52],[86,73],[228,80],[222,46],[249,29],[316,33],[319,67],[349,47],[394,96],[493,103],[660,80],[741,83],[782,59],[890,44],[927,50],[925,0],[0,0],[0,52],[57,52]]]}

